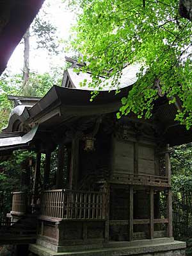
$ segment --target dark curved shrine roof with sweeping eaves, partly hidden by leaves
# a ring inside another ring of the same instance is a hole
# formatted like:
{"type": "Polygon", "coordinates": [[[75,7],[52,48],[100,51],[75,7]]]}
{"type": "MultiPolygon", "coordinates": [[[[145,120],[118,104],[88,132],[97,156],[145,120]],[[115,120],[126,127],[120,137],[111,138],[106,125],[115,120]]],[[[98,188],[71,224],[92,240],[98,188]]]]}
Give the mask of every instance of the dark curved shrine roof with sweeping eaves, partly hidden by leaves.
{"type": "MultiPolygon", "coordinates": [[[[97,117],[99,115],[115,113],[121,107],[121,99],[131,90],[131,85],[124,87],[116,94],[116,90],[110,92],[103,90],[90,101],[90,90],[72,89],[66,87],[52,87],[45,96],[36,102],[31,108],[14,109],[10,115],[10,122],[3,132],[16,132],[19,123],[34,127],[39,124],[39,130],[57,133],[58,128],[69,127],[83,117],[97,117]],[[18,122],[18,123],[17,123],[18,122]],[[16,130],[15,130],[16,129],[16,130]]],[[[191,130],[175,121],[177,107],[170,105],[166,97],[157,99],[154,103],[152,122],[162,131],[166,143],[174,146],[192,141],[191,130]]],[[[129,119],[129,117],[126,117],[129,119]]]]}

